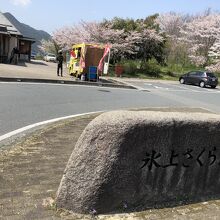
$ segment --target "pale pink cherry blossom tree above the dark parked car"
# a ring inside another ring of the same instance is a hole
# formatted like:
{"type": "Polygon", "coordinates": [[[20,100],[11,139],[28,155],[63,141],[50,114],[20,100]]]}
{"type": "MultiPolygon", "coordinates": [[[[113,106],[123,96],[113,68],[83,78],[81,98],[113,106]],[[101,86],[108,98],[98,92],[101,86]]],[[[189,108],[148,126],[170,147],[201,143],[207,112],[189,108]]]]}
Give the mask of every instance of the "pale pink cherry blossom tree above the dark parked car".
{"type": "Polygon", "coordinates": [[[168,56],[187,57],[197,66],[206,66],[210,57],[219,50],[220,15],[206,10],[198,15],[167,13],[160,15],[156,22],[160,30],[168,36],[168,56]],[[179,54],[179,48],[183,48],[179,54]]]}

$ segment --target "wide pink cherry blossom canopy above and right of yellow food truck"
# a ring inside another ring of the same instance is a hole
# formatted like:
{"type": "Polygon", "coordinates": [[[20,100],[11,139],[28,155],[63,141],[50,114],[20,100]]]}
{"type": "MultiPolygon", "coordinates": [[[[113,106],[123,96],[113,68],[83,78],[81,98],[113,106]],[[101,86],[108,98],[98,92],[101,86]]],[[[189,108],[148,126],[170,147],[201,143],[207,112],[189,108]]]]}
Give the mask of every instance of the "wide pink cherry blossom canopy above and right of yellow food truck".
{"type": "Polygon", "coordinates": [[[149,54],[156,51],[152,49],[153,45],[161,44],[163,37],[156,30],[146,28],[139,31],[116,29],[111,21],[103,23],[81,21],[77,25],[63,27],[54,32],[53,40],[65,49],[82,42],[110,44],[111,57],[113,62],[116,62],[122,57],[136,57],[135,55],[140,53],[137,48],[147,51],[142,55],[145,60],[149,59],[149,54]]]}

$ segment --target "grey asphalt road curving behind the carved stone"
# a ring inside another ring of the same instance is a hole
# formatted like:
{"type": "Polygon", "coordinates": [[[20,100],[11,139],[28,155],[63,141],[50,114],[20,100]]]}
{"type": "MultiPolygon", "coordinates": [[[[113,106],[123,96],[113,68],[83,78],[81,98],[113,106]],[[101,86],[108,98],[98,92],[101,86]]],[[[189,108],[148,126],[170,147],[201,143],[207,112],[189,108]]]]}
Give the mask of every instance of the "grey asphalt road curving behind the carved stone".
{"type": "Polygon", "coordinates": [[[200,107],[220,113],[219,89],[175,83],[134,83],[142,90],[0,83],[0,135],[32,123],[99,110],[200,107]]]}

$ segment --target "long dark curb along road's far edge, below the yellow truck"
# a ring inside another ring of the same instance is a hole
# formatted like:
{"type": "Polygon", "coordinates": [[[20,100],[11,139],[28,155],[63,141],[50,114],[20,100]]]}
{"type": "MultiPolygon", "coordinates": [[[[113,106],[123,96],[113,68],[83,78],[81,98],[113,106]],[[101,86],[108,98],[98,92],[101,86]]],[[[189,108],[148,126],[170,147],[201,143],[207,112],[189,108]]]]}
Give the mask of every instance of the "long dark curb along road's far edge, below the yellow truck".
{"type": "Polygon", "coordinates": [[[70,81],[70,80],[57,80],[57,79],[35,79],[35,78],[22,78],[22,77],[0,77],[0,82],[31,82],[31,83],[54,83],[54,84],[73,84],[73,85],[87,85],[87,86],[101,86],[112,88],[136,89],[131,85],[103,83],[103,82],[87,82],[87,81],[70,81]]]}

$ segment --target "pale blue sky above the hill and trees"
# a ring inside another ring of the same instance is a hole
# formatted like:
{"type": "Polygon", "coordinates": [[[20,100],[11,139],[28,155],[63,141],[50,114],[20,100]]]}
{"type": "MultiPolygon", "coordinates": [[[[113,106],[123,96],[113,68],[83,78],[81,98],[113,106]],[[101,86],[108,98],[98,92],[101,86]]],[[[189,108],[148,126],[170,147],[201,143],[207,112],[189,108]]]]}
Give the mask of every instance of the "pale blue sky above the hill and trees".
{"type": "Polygon", "coordinates": [[[0,0],[1,12],[50,34],[80,20],[137,19],[170,11],[194,14],[207,8],[220,11],[220,0],[0,0]]]}

